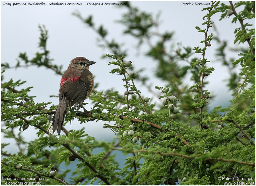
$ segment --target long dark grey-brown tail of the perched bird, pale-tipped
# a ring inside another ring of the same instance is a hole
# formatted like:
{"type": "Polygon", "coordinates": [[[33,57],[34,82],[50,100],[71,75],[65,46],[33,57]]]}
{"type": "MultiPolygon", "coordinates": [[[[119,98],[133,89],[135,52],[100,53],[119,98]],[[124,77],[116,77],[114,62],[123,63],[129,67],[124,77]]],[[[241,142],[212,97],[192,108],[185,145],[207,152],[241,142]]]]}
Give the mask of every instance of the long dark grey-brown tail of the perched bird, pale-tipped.
{"type": "Polygon", "coordinates": [[[59,105],[57,107],[57,110],[55,111],[55,114],[50,122],[47,132],[49,130],[49,133],[50,133],[52,130],[52,132],[54,133],[55,130],[57,130],[58,135],[60,134],[62,126],[63,126],[64,118],[65,118],[65,115],[67,112],[68,105],[69,105],[69,100],[66,100],[66,96],[63,96],[61,98],[59,105]]]}

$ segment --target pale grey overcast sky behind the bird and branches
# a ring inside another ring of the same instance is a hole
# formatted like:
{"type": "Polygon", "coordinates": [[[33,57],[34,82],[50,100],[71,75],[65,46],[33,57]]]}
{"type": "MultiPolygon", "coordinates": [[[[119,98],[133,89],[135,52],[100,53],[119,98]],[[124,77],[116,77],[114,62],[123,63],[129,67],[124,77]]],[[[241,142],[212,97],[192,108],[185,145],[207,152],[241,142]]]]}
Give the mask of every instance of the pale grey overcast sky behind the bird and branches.
{"type": "MultiPolygon", "coordinates": [[[[10,66],[16,64],[16,59],[19,52],[26,52],[30,59],[34,57],[35,53],[39,50],[38,37],[40,31],[38,25],[45,25],[48,29],[49,39],[47,48],[50,51],[50,58],[54,59],[53,64],[63,65],[66,69],[69,62],[77,57],[84,56],[89,60],[95,61],[96,64],[92,65],[90,71],[95,75],[94,82],[99,83],[98,91],[106,90],[113,87],[120,93],[125,91],[123,82],[118,75],[109,73],[113,68],[112,65],[107,65],[110,61],[109,58],[102,59],[101,56],[111,52],[108,49],[102,49],[97,45],[98,35],[84,25],[77,17],[72,15],[72,12],[81,12],[83,17],[93,15],[93,21],[96,26],[103,24],[108,29],[107,39],[114,38],[119,43],[123,43],[124,49],[128,50],[126,60],[135,61],[135,69],[144,68],[143,74],[150,77],[152,89],[155,85],[166,86],[166,82],[162,82],[154,77],[154,70],[156,63],[143,54],[148,50],[148,46],[144,44],[141,47],[140,55],[137,55],[136,44],[137,40],[128,35],[123,35],[123,26],[116,22],[121,19],[121,15],[127,11],[125,8],[117,8],[117,6],[93,6],[87,3],[117,3],[118,1],[73,1],[73,3],[82,3],[81,6],[53,6],[48,3],[69,3],[71,1],[43,1],[46,6],[8,6],[3,3],[18,3],[20,1],[1,1],[1,62],[8,62],[10,66]],[[85,4],[85,5],[84,5],[85,4]]],[[[24,1],[26,2],[26,1],[24,1]]],[[[29,1],[27,1],[28,4],[29,1]]],[[[31,1],[30,1],[31,2],[31,1]]],[[[34,1],[36,2],[36,1],[34,1]]],[[[40,1],[42,2],[42,1],[40,1]]],[[[150,12],[154,17],[158,12],[160,14],[161,24],[159,30],[161,33],[165,31],[174,31],[173,44],[180,42],[183,46],[200,46],[199,41],[204,39],[202,33],[198,33],[195,26],[202,26],[204,22],[202,17],[207,13],[201,11],[205,6],[185,6],[182,5],[186,1],[132,1],[132,6],[138,7],[140,10],[150,12]]],[[[198,2],[198,1],[191,1],[198,2]]],[[[208,3],[208,1],[201,1],[200,3],[208,3]]],[[[224,3],[228,3],[225,1],[224,3]]],[[[228,40],[228,46],[234,47],[234,29],[240,25],[231,24],[231,16],[229,19],[219,21],[220,13],[212,16],[212,20],[219,31],[222,39],[228,40]]],[[[210,32],[214,32],[210,29],[210,32]]],[[[206,86],[211,95],[216,98],[210,100],[210,106],[215,107],[218,105],[226,106],[230,100],[230,92],[226,88],[224,79],[228,79],[226,67],[216,59],[214,55],[218,43],[213,41],[212,46],[207,48],[206,57],[211,61],[210,65],[215,68],[213,74],[207,77],[210,83],[206,86]]],[[[246,46],[246,45],[245,45],[246,46]]],[[[247,46],[246,46],[247,47],[247,46]]],[[[228,56],[238,58],[232,53],[228,56]]],[[[201,56],[194,55],[200,58],[201,56]]],[[[182,63],[182,62],[181,62],[182,63]]],[[[33,86],[32,90],[28,93],[30,96],[37,96],[35,102],[52,102],[57,105],[58,98],[50,98],[49,95],[57,95],[59,93],[60,75],[56,75],[52,70],[45,67],[28,67],[18,69],[7,69],[4,73],[4,80],[9,81],[13,78],[14,81],[21,79],[27,83],[20,86],[26,88],[33,86]]],[[[140,83],[135,81],[144,96],[152,97],[152,95],[140,83]]],[[[188,81],[189,86],[193,84],[188,81]]],[[[18,89],[20,89],[18,88],[18,89]]],[[[90,102],[86,100],[86,102],[90,102]]],[[[154,98],[152,102],[159,103],[159,100],[154,98]]],[[[52,105],[50,104],[50,106],[52,105]]],[[[88,105],[86,105],[89,107],[88,105]]],[[[88,122],[81,124],[86,127],[86,133],[94,136],[96,139],[112,139],[113,133],[106,128],[102,128],[104,122],[88,122]]],[[[73,122],[72,129],[80,129],[82,126],[79,122],[73,122]]],[[[70,125],[65,126],[70,130],[70,125]]],[[[18,130],[16,131],[18,132],[18,130]]],[[[36,137],[36,130],[30,126],[28,130],[24,131],[26,140],[31,140],[36,137]],[[28,135],[29,134],[29,135],[28,135]]],[[[2,143],[7,140],[1,137],[2,143]]],[[[8,139],[9,141],[9,139],[8,139]]],[[[17,149],[12,149],[12,152],[17,149]]]]}

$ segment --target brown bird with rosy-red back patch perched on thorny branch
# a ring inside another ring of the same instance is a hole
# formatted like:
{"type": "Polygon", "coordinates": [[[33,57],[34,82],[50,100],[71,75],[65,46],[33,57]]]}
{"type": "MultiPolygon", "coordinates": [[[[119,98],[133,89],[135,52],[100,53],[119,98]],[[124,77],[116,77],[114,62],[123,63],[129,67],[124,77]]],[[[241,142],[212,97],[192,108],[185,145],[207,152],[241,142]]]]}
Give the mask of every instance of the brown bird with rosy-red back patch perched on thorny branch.
{"type": "Polygon", "coordinates": [[[82,107],[86,111],[82,104],[91,95],[94,87],[93,76],[89,68],[95,63],[84,57],[76,57],[71,60],[60,81],[59,105],[47,132],[51,133],[52,130],[54,134],[57,130],[58,136],[60,135],[69,104],[70,107],[74,106],[73,108],[78,106],[77,110],[82,107]]]}

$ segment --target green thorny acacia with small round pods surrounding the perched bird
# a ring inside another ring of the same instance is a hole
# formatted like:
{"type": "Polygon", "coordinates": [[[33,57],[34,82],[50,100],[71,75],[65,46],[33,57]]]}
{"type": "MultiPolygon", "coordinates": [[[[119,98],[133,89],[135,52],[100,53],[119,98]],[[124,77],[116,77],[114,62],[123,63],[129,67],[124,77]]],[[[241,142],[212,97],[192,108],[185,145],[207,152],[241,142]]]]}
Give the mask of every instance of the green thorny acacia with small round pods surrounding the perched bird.
{"type": "MultiPolygon", "coordinates": [[[[11,79],[3,82],[3,70],[1,121],[5,127],[1,128],[1,132],[5,138],[16,140],[19,151],[9,154],[4,150],[9,144],[1,144],[1,176],[12,177],[20,184],[25,184],[28,179],[19,178],[36,179],[44,185],[92,184],[96,180],[98,184],[107,185],[175,185],[175,182],[183,185],[218,185],[224,182],[218,177],[255,180],[255,29],[245,23],[246,19],[255,18],[255,2],[241,1],[234,5],[232,1],[230,5],[211,2],[210,7],[203,9],[206,15],[202,26],[195,27],[202,33],[201,44],[195,44],[193,48],[178,47],[174,53],[168,52],[170,50],[166,46],[173,33],[161,33],[158,20],[151,14],[131,7],[129,2],[125,3],[127,13],[120,21],[125,26],[125,34],[137,38],[138,47],[143,42],[148,43],[150,49],[146,55],[157,62],[156,77],[167,82],[166,87],[156,85],[156,90],[152,90],[147,84],[147,77],[137,76],[134,72],[136,59],[127,59],[128,51],[123,50],[120,43],[106,39],[108,31],[104,26],[96,26],[92,16],[83,18],[81,14],[74,13],[99,34],[100,46],[109,49],[110,54],[106,57],[111,59],[111,72],[121,77],[125,94],[115,90],[99,92],[95,87],[90,96],[94,102],[90,113],[76,112],[71,108],[67,111],[65,123],[74,118],[88,124],[102,120],[106,122],[103,127],[111,128],[116,138],[112,142],[97,141],[88,136],[84,128],[67,131],[65,126],[65,134],[59,138],[49,133],[45,136],[48,120],[57,105],[35,103],[28,94],[31,87],[19,89],[19,85],[25,81],[13,82],[11,79]],[[240,12],[236,12],[238,7],[242,8],[240,12]],[[218,12],[222,13],[220,20],[232,15],[232,23],[240,22],[241,27],[234,31],[234,43],[248,43],[248,46],[238,48],[238,60],[227,59],[226,41],[211,33],[211,17],[218,16],[218,12]],[[153,36],[159,39],[155,43],[152,42],[153,36]],[[210,92],[204,87],[207,76],[214,73],[207,58],[207,48],[211,46],[212,39],[220,43],[216,55],[229,69],[227,86],[233,90],[233,99],[227,108],[215,107],[209,112],[207,103],[210,102],[210,92]],[[186,61],[187,65],[181,67],[179,60],[186,61]],[[238,64],[241,69],[236,74],[234,67],[238,64]],[[183,82],[188,73],[194,82],[190,87],[183,82]],[[149,98],[143,96],[145,93],[136,86],[138,81],[150,92],[158,91],[163,105],[150,103],[149,98]],[[177,113],[178,110],[181,112],[177,113]],[[220,112],[225,114],[220,115],[220,112]],[[22,132],[18,136],[13,133],[16,127],[25,130],[28,126],[38,128],[37,139],[24,141],[22,132]],[[92,150],[97,147],[102,147],[102,151],[93,154],[92,150]],[[125,159],[123,169],[119,168],[112,151],[130,155],[125,159]],[[71,170],[50,175],[61,162],[65,161],[68,165],[76,159],[78,161],[72,177],[67,178],[71,170]]],[[[41,26],[39,28],[42,51],[32,59],[26,53],[20,53],[16,67],[22,66],[20,63],[23,62],[26,66],[45,66],[61,75],[62,68],[54,65],[49,58],[47,30],[41,26]]],[[[1,65],[2,68],[9,68],[7,63],[1,65]]]]}

